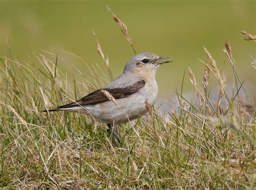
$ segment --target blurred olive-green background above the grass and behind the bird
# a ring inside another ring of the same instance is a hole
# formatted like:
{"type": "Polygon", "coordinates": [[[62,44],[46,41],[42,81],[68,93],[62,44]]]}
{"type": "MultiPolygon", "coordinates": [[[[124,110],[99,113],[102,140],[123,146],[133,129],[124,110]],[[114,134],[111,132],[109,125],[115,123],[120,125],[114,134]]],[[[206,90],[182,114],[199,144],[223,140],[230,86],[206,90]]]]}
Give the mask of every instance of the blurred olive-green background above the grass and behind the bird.
{"type": "MultiPolygon", "coordinates": [[[[82,61],[68,56],[68,51],[87,64],[97,62],[105,71],[96,51],[95,30],[103,52],[109,56],[114,77],[123,71],[133,55],[132,48],[114,23],[108,5],[126,23],[137,52],[171,55],[173,63],[158,69],[159,97],[169,98],[181,88],[184,70],[190,66],[201,84],[206,61],[203,47],[212,54],[222,71],[225,64],[227,81],[232,82],[232,69],[223,52],[230,41],[238,73],[255,87],[255,70],[250,55],[255,57],[255,42],[245,41],[240,31],[255,34],[256,1],[3,1],[0,0],[0,55],[27,61],[31,52],[45,50],[64,57],[72,67],[89,73],[82,61]]],[[[42,53],[42,52],[41,52],[42,53]]],[[[69,73],[66,65],[58,65],[69,73]]],[[[88,75],[90,78],[90,76],[88,75]]],[[[188,74],[185,90],[191,90],[188,74]]],[[[72,80],[73,76],[69,76],[72,80]]],[[[214,86],[214,82],[211,84],[214,86]]]]}

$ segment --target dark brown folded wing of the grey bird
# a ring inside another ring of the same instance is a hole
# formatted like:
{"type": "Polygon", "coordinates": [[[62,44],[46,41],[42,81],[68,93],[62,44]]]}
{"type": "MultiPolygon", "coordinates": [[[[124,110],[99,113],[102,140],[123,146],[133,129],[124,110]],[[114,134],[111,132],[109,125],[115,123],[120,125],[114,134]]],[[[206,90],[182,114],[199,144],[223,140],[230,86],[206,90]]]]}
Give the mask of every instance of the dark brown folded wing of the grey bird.
{"type": "MultiPolygon", "coordinates": [[[[144,86],[145,86],[145,81],[140,80],[134,83],[132,86],[129,86],[126,88],[114,88],[114,89],[103,88],[103,90],[106,90],[107,92],[109,92],[115,99],[120,99],[120,98],[128,97],[134,93],[137,93],[144,86]]],[[[95,92],[84,96],[83,98],[81,98],[76,102],[59,106],[56,109],[53,109],[52,111],[62,109],[62,108],[72,108],[77,105],[96,104],[96,103],[109,101],[109,98],[107,98],[105,94],[100,90],[102,89],[96,90],[95,92]]]]}

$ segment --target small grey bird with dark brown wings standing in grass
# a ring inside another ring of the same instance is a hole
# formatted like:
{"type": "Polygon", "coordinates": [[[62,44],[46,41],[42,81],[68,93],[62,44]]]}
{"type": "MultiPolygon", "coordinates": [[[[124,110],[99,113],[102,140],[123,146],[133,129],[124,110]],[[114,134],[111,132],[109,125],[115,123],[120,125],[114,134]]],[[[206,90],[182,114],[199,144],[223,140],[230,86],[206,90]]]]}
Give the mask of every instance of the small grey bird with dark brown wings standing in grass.
{"type": "MultiPolygon", "coordinates": [[[[153,53],[140,53],[125,65],[124,72],[108,86],[90,93],[80,100],[61,105],[49,111],[82,112],[96,121],[106,123],[112,131],[113,124],[121,124],[142,117],[147,113],[145,102],[153,105],[157,98],[157,68],[172,61],[162,61],[171,57],[159,57],[153,53]],[[105,90],[105,91],[104,91],[105,90]],[[114,103],[107,93],[112,95],[114,103]]],[[[113,135],[120,142],[120,136],[113,135]]]]}

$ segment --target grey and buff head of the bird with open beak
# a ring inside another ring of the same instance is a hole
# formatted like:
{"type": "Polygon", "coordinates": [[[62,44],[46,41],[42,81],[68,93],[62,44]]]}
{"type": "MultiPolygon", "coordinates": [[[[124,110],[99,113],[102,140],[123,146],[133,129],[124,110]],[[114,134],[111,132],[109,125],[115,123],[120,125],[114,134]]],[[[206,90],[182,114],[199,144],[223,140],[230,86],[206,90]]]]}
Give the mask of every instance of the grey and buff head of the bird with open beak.
{"type": "Polygon", "coordinates": [[[132,57],[125,65],[124,73],[132,72],[137,76],[155,76],[157,68],[162,64],[172,61],[164,61],[164,59],[172,57],[159,57],[154,53],[139,53],[132,57]]]}

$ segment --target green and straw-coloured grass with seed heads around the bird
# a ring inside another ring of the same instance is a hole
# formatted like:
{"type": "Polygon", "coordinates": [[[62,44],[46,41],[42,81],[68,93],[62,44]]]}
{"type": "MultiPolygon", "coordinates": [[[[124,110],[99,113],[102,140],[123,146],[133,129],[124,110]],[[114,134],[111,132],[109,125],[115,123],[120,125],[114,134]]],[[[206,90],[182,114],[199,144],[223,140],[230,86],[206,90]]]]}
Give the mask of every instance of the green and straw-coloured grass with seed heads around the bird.
{"type": "Polygon", "coordinates": [[[123,145],[116,147],[107,126],[91,117],[40,111],[102,87],[107,76],[89,67],[92,81],[70,71],[69,83],[58,67],[65,62],[59,55],[44,52],[50,59],[35,53],[23,64],[1,57],[0,187],[253,189],[255,105],[228,42],[224,52],[233,66],[231,96],[225,75],[205,48],[202,86],[189,70],[195,98],[186,100],[181,84],[178,103],[169,101],[176,110],[163,115],[149,107],[148,116],[118,126],[123,145]],[[210,77],[219,84],[218,101],[211,100],[210,77]]]}

